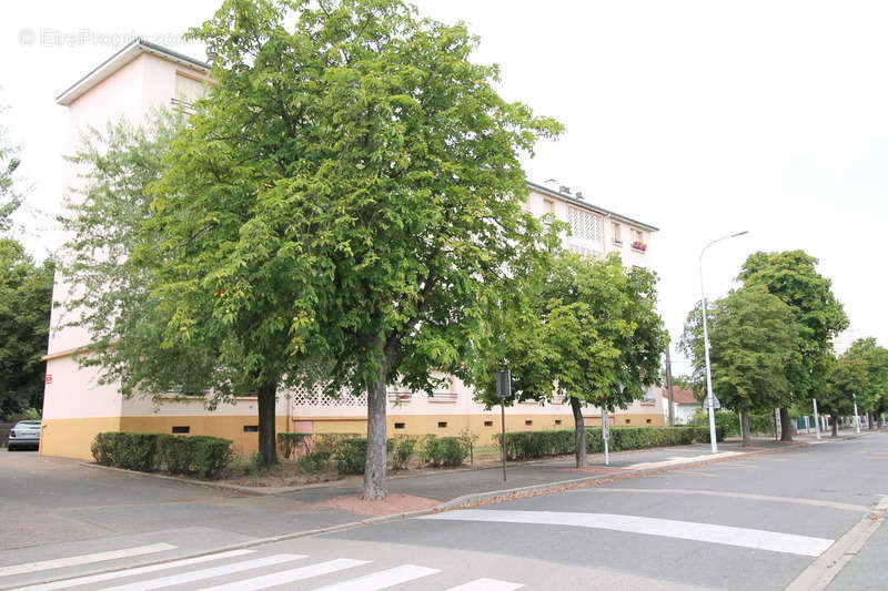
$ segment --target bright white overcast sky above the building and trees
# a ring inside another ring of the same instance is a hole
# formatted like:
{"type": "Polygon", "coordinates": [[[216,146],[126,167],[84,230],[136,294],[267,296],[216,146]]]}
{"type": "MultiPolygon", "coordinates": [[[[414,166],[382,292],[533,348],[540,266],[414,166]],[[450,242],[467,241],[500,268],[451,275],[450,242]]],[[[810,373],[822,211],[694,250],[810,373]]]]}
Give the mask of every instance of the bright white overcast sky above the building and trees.
{"type": "MultiPolygon", "coordinates": [[[[502,67],[502,94],[562,121],[528,179],[554,177],[586,200],[660,228],[648,255],[673,339],[699,299],[724,295],[755,251],[820,258],[857,336],[888,345],[888,4],[421,0],[465,20],[476,60],[502,67]]],[[[134,34],[196,58],[172,35],[215,0],[31,0],[3,7],[0,104],[32,185],[20,222],[51,248],[65,109],[54,98],[134,34]],[[58,33],[68,34],[68,42],[58,33]]],[[[674,355],[674,357],[679,357],[674,355]]],[[[687,366],[676,361],[675,371],[687,366]]]]}

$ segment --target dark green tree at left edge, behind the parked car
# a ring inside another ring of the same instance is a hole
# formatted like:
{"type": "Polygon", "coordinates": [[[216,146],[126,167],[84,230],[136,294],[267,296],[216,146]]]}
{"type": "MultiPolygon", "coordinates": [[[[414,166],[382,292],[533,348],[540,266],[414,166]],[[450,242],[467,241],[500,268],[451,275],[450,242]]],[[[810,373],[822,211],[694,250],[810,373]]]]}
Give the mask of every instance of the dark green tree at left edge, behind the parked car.
{"type": "Polygon", "coordinates": [[[43,408],[53,266],[0,238],[0,418],[43,408]]]}

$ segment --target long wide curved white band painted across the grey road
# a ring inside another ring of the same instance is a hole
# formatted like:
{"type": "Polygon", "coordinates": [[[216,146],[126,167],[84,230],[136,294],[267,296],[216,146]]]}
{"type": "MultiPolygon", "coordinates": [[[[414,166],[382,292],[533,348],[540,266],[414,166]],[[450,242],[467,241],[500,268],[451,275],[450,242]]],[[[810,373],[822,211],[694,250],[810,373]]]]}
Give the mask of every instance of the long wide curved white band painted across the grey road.
{"type": "Polygon", "coordinates": [[[617,516],[610,513],[574,513],[562,511],[496,511],[485,509],[463,509],[446,511],[416,519],[438,519],[453,521],[492,521],[500,523],[535,523],[546,526],[569,526],[579,528],[629,531],[665,538],[679,538],[702,542],[723,543],[769,550],[806,557],[819,557],[833,544],[826,538],[811,538],[793,533],[779,533],[759,529],[714,526],[694,521],[675,521],[652,517],[617,516]]]}

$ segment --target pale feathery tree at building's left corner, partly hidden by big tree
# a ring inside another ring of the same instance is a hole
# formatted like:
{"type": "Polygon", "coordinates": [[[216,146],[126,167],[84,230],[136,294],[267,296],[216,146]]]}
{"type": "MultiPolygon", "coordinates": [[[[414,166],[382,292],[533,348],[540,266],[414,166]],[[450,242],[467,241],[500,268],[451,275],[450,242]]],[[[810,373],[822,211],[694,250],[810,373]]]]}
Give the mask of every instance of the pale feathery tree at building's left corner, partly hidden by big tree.
{"type": "Polygon", "coordinates": [[[62,215],[67,240],[56,299],[60,326],[89,333],[89,346],[75,359],[98,366],[100,383],[119,384],[127,397],[157,399],[211,390],[206,405],[213,408],[246,391],[240,367],[208,347],[165,337],[172,315],[151,289],[155,268],[135,258],[140,247],[152,249],[160,240],[145,228],[153,215],[148,186],[162,175],[163,155],[182,125],[180,115],[159,112],[143,126],[121,120],[85,132],[70,159],[82,182],[62,215]]]}

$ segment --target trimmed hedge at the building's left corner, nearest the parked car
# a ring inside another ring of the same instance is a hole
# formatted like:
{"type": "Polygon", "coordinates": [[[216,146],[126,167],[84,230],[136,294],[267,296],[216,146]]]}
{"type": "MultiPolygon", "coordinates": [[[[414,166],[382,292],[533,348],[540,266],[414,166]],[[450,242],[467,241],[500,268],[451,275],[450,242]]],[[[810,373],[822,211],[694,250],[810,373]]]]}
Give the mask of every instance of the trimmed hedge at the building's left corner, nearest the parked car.
{"type": "Polygon", "coordinates": [[[92,442],[92,457],[102,466],[151,472],[218,476],[234,458],[230,439],[111,431],[92,442]]]}

